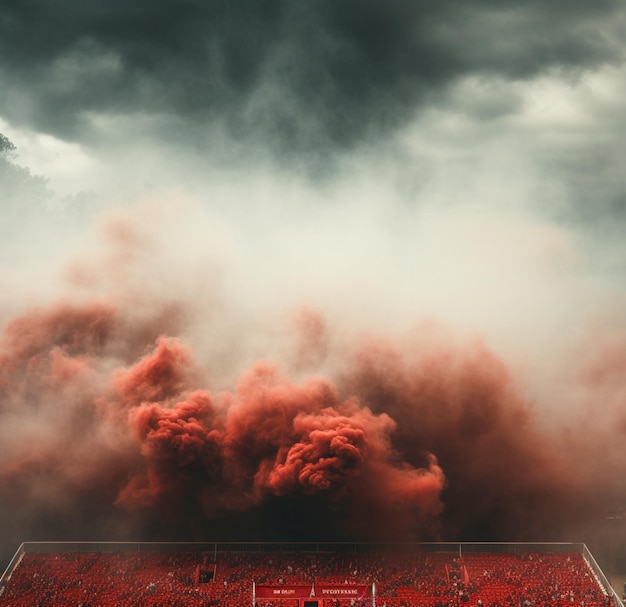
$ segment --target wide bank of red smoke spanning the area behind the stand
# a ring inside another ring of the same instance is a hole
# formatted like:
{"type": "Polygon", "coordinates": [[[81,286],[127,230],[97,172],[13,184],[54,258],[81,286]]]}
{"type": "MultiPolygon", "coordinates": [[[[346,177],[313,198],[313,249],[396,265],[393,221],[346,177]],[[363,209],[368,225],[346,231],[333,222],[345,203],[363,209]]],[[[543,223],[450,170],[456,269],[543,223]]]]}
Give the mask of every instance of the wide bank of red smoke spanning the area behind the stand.
{"type": "MultiPolygon", "coordinates": [[[[163,317],[63,304],[6,327],[7,541],[584,539],[568,534],[624,498],[618,459],[603,469],[576,420],[543,430],[481,345],[361,343],[332,381],[259,361],[213,393],[163,317]]],[[[328,329],[313,324],[319,344],[328,329]]],[[[589,385],[615,383],[609,354],[589,385]]]]}

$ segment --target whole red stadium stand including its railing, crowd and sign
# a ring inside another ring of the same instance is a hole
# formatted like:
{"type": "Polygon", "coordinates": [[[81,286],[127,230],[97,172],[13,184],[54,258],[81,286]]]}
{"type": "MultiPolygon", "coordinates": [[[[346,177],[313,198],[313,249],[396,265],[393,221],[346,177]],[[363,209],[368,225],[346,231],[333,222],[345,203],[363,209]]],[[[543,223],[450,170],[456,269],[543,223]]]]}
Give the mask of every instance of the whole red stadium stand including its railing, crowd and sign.
{"type": "Polygon", "coordinates": [[[25,543],[0,607],[623,607],[581,544],[25,543]]]}

